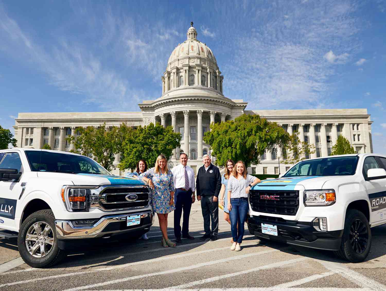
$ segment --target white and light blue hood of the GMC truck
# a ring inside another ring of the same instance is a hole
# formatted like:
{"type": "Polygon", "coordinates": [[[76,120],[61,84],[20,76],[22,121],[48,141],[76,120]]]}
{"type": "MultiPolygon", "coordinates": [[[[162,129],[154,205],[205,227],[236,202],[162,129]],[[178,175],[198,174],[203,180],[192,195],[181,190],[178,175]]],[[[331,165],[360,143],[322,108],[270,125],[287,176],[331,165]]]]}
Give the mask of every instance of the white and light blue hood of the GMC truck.
{"type": "Polygon", "coordinates": [[[333,176],[301,176],[301,177],[282,177],[277,179],[263,180],[256,184],[254,190],[283,189],[293,190],[296,185],[301,185],[305,189],[322,189],[323,184],[332,179],[333,176]]]}

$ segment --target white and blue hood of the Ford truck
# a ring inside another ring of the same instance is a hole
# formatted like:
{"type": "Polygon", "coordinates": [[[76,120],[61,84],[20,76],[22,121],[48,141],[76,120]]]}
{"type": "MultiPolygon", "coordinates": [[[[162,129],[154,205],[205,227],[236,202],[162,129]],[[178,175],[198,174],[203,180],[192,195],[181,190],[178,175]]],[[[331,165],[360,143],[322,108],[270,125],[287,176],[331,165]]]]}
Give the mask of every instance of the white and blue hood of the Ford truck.
{"type": "Polygon", "coordinates": [[[38,176],[48,179],[71,180],[74,185],[146,185],[144,181],[137,178],[112,175],[38,172],[38,176]]]}

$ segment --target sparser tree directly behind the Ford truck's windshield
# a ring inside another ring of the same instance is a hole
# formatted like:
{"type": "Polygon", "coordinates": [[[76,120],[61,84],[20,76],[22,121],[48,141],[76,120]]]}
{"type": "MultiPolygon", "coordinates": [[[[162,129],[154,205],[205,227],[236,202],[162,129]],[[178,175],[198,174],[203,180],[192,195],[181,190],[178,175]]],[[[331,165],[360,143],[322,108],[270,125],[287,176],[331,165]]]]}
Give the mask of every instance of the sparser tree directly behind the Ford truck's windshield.
{"type": "Polygon", "coordinates": [[[66,139],[74,145],[75,150],[71,152],[83,156],[93,156],[105,169],[115,169],[113,162],[115,154],[121,152],[122,142],[126,134],[133,129],[126,124],[119,127],[113,126],[110,129],[103,123],[99,127],[88,126],[78,127],[75,132],[80,135],[69,135],[66,139]]]}

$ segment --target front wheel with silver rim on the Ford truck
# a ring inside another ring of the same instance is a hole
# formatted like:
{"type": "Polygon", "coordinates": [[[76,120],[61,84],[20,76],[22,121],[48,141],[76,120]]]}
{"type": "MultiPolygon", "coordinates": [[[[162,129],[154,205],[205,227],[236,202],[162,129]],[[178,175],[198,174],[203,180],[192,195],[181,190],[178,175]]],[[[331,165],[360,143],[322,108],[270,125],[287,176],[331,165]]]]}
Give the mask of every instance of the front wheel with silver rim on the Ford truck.
{"type": "Polygon", "coordinates": [[[17,246],[24,262],[34,268],[53,266],[66,256],[66,252],[59,249],[51,209],[36,211],[24,220],[17,246]]]}

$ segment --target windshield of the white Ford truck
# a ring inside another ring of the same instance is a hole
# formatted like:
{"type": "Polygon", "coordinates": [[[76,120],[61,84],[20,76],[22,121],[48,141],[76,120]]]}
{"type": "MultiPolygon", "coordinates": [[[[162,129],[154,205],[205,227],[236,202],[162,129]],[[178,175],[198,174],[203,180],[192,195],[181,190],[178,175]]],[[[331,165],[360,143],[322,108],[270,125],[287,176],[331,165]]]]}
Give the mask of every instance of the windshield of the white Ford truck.
{"type": "Polygon", "coordinates": [[[100,164],[85,156],[46,151],[25,151],[25,154],[33,172],[110,175],[100,164]]]}

